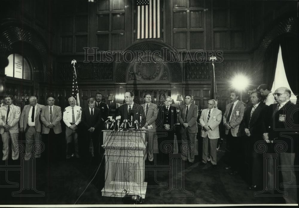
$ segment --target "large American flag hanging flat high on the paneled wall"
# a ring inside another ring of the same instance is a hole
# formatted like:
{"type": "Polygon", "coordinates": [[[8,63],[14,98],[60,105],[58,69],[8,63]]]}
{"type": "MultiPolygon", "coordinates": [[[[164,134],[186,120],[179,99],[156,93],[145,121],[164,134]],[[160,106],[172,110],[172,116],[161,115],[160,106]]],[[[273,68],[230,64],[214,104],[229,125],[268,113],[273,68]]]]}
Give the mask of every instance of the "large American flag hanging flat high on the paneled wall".
{"type": "Polygon", "coordinates": [[[136,0],[137,39],[160,38],[160,0],[136,0]]]}

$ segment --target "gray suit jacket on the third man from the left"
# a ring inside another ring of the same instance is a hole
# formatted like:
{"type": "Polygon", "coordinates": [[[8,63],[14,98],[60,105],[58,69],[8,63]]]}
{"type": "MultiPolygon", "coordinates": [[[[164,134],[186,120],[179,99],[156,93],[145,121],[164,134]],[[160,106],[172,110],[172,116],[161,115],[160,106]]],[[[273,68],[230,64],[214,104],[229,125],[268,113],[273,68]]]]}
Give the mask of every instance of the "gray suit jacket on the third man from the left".
{"type": "MultiPolygon", "coordinates": [[[[53,130],[55,134],[60,134],[61,130],[61,108],[57,105],[53,105],[52,108],[52,124],[54,125],[53,130]]],[[[49,134],[50,128],[47,126],[50,125],[50,117],[49,117],[49,106],[46,105],[42,107],[42,113],[40,114],[40,119],[42,120],[42,124],[44,125],[42,128],[42,134],[49,134]]]]}

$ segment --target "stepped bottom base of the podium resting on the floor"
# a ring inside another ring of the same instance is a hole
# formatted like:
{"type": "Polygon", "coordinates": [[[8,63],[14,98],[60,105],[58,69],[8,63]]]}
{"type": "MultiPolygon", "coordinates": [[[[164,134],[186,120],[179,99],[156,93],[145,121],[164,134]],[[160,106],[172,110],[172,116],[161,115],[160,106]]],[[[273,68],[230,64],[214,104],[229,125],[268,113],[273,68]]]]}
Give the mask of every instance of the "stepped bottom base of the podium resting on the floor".
{"type": "MultiPolygon", "coordinates": [[[[108,186],[102,189],[102,196],[111,196],[111,197],[124,197],[126,192],[123,189],[117,187],[126,187],[129,183],[125,184],[109,184],[108,186]]],[[[130,184],[128,195],[139,195],[143,199],[145,198],[145,193],[147,192],[147,182],[141,184],[130,184]]]]}

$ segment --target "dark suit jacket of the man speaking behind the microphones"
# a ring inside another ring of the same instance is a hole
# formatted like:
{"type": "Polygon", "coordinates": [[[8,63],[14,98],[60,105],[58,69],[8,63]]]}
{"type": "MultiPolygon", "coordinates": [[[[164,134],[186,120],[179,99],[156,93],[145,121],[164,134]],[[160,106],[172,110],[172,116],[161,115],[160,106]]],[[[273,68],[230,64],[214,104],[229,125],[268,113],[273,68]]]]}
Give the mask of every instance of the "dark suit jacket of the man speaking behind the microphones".
{"type": "MultiPolygon", "coordinates": [[[[138,121],[138,123],[140,124],[140,115],[141,115],[141,124],[140,127],[142,128],[145,125],[146,122],[146,117],[145,117],[145,113],[143,110],[143,107],[137,103],[134,103],[134,105],[132,106],[132,127],[135,127],[135,120],[138,121]]],[[[128,112],[128,105],[127,104],[123,104],[118,108],[118,114],[117,116],[121,116],[120,118],[120,123],[123,122],[124,119],[128,119],[131,120],[131,115],[129,115],[128,112]]]]}

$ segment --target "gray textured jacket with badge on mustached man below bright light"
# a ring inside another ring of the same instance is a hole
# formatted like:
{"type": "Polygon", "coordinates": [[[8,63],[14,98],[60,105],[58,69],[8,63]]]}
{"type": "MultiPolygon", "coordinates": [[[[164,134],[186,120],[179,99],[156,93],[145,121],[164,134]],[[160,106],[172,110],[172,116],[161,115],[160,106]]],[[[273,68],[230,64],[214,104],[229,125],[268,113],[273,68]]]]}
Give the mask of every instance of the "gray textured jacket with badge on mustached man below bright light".
{"type": "MultiPolygon", "coordinates": [[[[225,113],[223,114],[223,125],[225,125],[227,122],[227,116],[229,109],[231,108],[232,103],[228,103],[226,105],[225,113]]],[[[244,135],[244,130],[240,128],[240,124],[243,119],[245,111],[245,103],[238,101],[236,104],[234,110],[231,112],[231,135],[232,136],[243,136],[244,135]]],[[[225,134],[228,134],[228,129],[225,128],[225,134]]]]}

